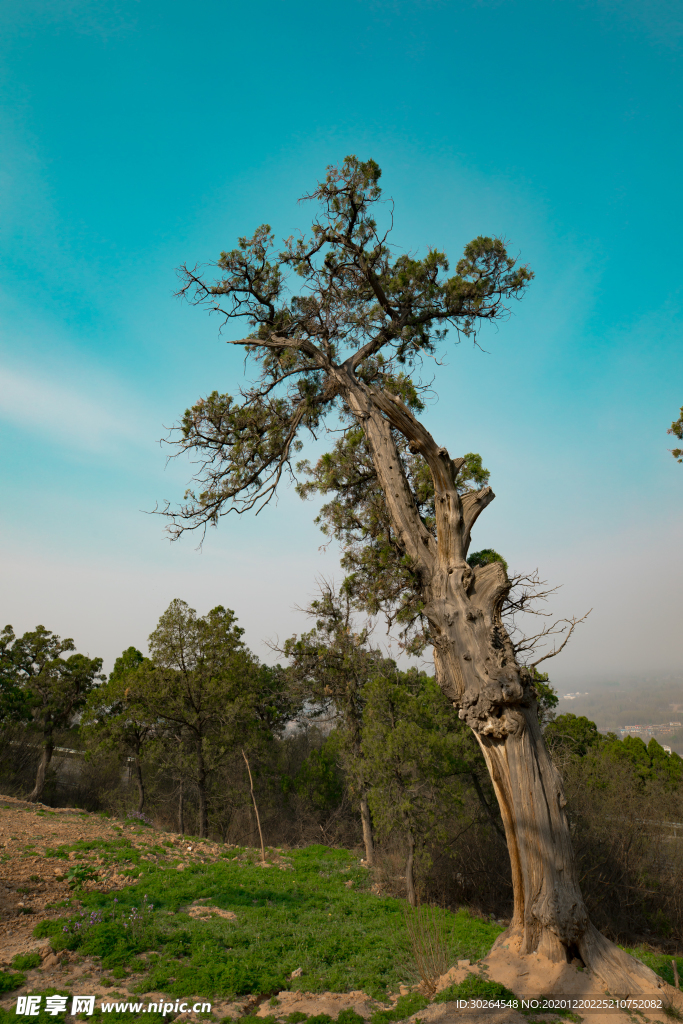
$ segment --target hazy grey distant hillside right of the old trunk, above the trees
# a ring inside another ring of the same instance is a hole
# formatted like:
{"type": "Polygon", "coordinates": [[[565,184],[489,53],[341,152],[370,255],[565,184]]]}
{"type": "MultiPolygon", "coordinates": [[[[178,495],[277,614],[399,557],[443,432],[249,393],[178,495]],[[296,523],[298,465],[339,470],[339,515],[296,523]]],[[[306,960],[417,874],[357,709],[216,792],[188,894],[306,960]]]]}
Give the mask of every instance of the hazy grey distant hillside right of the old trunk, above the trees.
{"type": "MultiPolygon", "coordinates": [[[[683,675],[586,682],[560,688],[559,697],[558,714],[584,715],[600,732],[618,733],[627,725],[683,722],[683,675]]],[[[654,738],[683,756],[683,726],[673,732],[657,731],[654,738]]]]}

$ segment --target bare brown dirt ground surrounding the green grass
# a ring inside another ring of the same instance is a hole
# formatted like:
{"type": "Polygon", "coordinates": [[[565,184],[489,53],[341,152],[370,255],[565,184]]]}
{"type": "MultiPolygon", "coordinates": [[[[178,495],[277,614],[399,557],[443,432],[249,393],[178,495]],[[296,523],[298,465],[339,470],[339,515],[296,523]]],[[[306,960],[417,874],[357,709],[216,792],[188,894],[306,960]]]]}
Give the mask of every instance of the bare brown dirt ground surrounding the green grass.
{"type": "MultiPolygon", "coordinates": [[[[223,850],[219,844],[202,842],[201,847],[198,847],[193,841],[173,833],[160,834],[158,830],[141,828],[138,824],[102,818],[71,808],[54,810],[40,804],[27,804],[0,797],[0,967],[7,969],[16,954],[39,952],[41,955],[41,966],[26,972],[26,986],[0,996],[0,1008],[13,1012],[17,995],[48,986],[68,986],[79,994],[94,994],[98,998],[131,1001],[139,998],[131,990],[138,976],[130,976],[125,983],[117,982],[116,988],[104,987],[111,986],[111,980],[103,978],[95,958],[69,952],[55,955],[50,950],[49,939],[33,937],[33,930],[38,922],[63,912],[50,904],[71,898],[72,904],[78,905],[67,880],[69,862],[46,856],[46,849],[79,840],[113,840],[122,835],[138,848],[143,859],[148,860],[155,857],[151,852],[153,846],[160,841],[172,843],[173,856],[177,858],[180,869],[200,857],[205,861],[217,859],[223,850]]],[[[93,856],[93,863],[97,864],[96,856],[93,856]]],[[[122,865],[122,869],[125,869],[125,865],[122,865]]],[[[97,881],[87,882],[85,888],[109,892],[122,889],[130,883],[128,877],[112,868],[100,870],[97,881]]],[[[203,912],[204,908],[198,906],[196,914],[200,916],[203,912]]],[[[437,991],[463,981],[472,973],[502,982],[519,997],[538,995],[539,992],[574,997],[602,994],[599,982],[590,972],[580,972],[569,965],[552,964],[542,956],[519,957],[511,948],[499,948],[476,964],[463,962],[462,966],[452,968],[439,980],[437,991]]],[[[663,997],[673,1010],[669,1014],[663,1010],[640,1011],[637,1015],[618,1011],[582,1011],[579,1016],[586,1024],[637,1024],[638,1021],[643,1024],[646,1021],[669,1024],[672,1019],[683,1019],[683,993],[676,992],[663,983],[663,987],[653,990],[652,995],[663,997]]],[[[164,1001],[165,998],[170,999],[170,996],[163,992],[144,995],[145,1002],[164,1001]]],[[[381,1008],[380,1004],[364,992],[286,991],[279,993],[278,999],[276,1008],[253,997],[233,1001],[218,1000],[213,1004],[213,1017],[222,1020],[226,1017],[238,1018],[245,1013],[259,1017],[275,1013],[282,1017],[298,1011],[310,1015],[326,1013],[336,1019],[342,1010],[352,1008],[362,1017],[369,1018],[374,1010],[381,1008]]],[[[199,1018],[195,1018],[191,1013],[176,1018],[178,1021],[195,1019],[199,1018]]],[[[529,1020],[514,1010],[470,1011],[458,1009],[453,1002],[434,1004],[411,1018],[416,1024],[418,1019],[424,1024],[513,1024],[529,1020]]],[[[559,1020],[549,1013],[543,1013],[539,1019],[548,1024],[559,1020]]]]}

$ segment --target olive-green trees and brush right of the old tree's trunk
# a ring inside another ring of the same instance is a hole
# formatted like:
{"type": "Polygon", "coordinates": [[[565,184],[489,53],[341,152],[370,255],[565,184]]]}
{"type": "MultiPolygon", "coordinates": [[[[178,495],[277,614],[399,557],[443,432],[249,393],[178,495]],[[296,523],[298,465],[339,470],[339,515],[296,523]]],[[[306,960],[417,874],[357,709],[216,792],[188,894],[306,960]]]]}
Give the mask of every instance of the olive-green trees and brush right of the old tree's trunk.
{"type": "Polygon", "coordinates": [[[683,936],[683,759],[559,715],[546,739],[564,779],[582,885],[615,939],[683,936]]]}

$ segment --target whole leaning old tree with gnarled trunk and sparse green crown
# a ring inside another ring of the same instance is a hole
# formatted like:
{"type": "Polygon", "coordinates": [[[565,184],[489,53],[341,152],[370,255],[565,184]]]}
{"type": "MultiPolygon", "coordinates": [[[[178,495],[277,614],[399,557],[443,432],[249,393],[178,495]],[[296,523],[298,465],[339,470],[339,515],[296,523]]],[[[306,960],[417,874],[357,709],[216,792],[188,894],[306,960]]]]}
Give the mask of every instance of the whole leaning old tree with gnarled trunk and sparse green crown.
{"type": "Polygon", "coordinates": [[[373,161],[348,157],[305,197],[321,210],[309,237],[278,251],[263,225],[221,253],[216,280],[182,268],[181,294],[225,321],[247,321],[249,335],[229,344],[244,346],[256,374],[239,397],[213,392],[185,413],[174,443],[199,468],[196,488],[167,510],[171,531],[258,510],[295,473],[301,434],[341,423],[335,452],[308,471],[318,489],[336,493],[328,523],[346,539],[357,602],[392,605],[404,625],[419,625],[416,642],[432,646],[437,682],[482,750],[512,864],[514,914],[503,940],[522,954],[580,957],[612,991],[649,987],[652,972],[589,920],[532,674],[502,617],[505,565],[468,564],[472,526],[494,493],[462,485],[472,467],[420,422],[407,373],[449,331],[471,336],[504,316],[532,274],[498,239],[469,243],[451,276],[443,253],[396,254],[376,220],[375,211],[391,219],[379,178],[373,161]]]}

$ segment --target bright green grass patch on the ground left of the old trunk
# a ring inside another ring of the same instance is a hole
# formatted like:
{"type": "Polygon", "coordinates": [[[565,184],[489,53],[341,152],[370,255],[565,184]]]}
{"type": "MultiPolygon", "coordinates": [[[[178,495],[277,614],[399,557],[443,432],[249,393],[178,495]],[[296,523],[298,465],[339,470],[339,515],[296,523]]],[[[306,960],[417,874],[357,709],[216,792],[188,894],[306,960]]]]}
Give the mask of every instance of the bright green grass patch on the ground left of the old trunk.
{"type": "MultiPolygon", "coordinates": [[[[288,988],[362,989],[383,998],[413,980],[400,967],[410,961],[404,904],[371,894],[368,871],[346,850],[293,851],[293,870],[263,869],[255,854],[232,850],[236,859],[195,863],[180,872],[173,866],[177,858],[140,861],[126,840],[69,849],[96,851],[105,863],[127,861],[131,874],[143,866],[143,881],[116,895],[83,893],[82,911],[43,922],[34,934],[49,935],[54,949],[101,957],[106,971],[144,971],[134,986],[140,994],[161,990],[209,998],[288,988]],[[352,888],[345,886],[349,880],[352,888]],[[188,904],[197,899],[232,911],[237,920],[191,919],[188,904]],[[301,977],[291,979],[298,968],[301,977]]],[[[162,847],[158,853],[172,857],[162,847]]],[[[461,910],[455,915],[454,958],[484,955],[500,931],[461,910]]]]}

